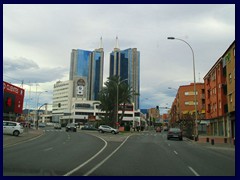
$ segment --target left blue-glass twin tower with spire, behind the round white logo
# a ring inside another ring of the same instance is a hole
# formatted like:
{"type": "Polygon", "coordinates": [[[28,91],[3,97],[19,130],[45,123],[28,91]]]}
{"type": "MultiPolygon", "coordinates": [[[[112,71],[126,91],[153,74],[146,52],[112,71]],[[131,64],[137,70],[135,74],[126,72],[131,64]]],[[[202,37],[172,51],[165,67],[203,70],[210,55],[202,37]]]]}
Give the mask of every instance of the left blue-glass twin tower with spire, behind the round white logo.
{"type": "Polygon", "coordinates": [[[74,82],[73,97],[82,100],[98,99],[103,86],[103,58],[102,45],[94,51],[72,50],[69,79],[74,82]]]}

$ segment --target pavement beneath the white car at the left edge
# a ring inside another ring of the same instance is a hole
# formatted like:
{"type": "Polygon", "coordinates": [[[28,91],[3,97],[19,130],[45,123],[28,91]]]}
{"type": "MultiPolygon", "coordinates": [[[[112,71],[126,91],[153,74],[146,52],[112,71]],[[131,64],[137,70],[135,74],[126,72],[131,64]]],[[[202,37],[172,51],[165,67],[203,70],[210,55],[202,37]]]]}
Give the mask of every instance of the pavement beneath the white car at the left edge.
{"type": "Polygon", "coordinates": [[[24,129],[23,134],[20,134],[19,136],[12,136],[12,135],[3,135],[3,148],[13,146],[15,144],[18,144],[20,142],[29,141],[31,139],[37,138],[44,134],[44,131],[42,129],[24,129]]]}

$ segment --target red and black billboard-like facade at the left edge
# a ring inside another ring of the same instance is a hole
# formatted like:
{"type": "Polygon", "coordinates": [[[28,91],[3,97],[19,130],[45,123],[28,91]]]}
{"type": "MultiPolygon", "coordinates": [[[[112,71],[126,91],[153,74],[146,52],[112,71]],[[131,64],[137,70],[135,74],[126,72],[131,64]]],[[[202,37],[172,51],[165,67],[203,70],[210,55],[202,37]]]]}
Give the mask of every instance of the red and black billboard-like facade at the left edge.
{"type": "Polygon", "coordinates": [[[3,81],[3,112],[22,114],[24,89],[3,81]]]}

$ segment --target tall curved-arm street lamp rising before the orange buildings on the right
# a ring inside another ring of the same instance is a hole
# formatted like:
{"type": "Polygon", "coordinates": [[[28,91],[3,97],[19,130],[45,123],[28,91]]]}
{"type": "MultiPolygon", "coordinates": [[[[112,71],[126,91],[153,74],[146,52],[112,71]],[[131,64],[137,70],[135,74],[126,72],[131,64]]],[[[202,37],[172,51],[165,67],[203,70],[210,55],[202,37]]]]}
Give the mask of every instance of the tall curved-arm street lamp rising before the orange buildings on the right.
{"type": "Polygon", "coordinates": [[[198,139],[198,124],[197,124],[197,94],[196,94],[196,76],[195,76],[195,60],[194,60],[194,52],[192,47],[188,42],[186,42],[183,39],[175,38],[175,37],[168,37],[169,40],[179,40],[187,44],[191,51],[192,51],[192,57],[193,57],[193,78],[194,78],[194,104],[195,104],[195,141],[198,139]]]}

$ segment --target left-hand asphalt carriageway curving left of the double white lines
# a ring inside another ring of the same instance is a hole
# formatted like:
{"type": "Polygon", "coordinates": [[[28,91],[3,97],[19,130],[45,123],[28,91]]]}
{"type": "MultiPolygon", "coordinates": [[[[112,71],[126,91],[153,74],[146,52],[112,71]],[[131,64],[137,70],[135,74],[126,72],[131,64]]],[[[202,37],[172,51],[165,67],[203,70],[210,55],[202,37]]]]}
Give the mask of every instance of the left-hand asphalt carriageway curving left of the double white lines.
{"type": "Polygon", "coordinates": [[[102,140],[87,134],[46,131],[33,141],[3,149],[3,175],[64,175],[103,146],[102,140]]]}

